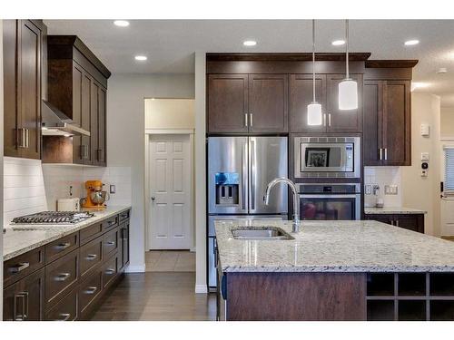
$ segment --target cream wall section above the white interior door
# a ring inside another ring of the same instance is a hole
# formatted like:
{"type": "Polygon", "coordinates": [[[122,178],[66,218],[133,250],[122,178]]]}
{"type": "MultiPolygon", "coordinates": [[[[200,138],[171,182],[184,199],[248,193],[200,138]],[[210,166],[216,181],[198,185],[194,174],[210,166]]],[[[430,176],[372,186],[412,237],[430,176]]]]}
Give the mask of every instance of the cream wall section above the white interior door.
{"type": "Polygon", "coordinates": [[[145,129],[193,129],[193,99],[145,99],[145,129]]]}

